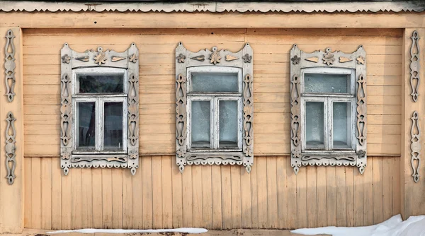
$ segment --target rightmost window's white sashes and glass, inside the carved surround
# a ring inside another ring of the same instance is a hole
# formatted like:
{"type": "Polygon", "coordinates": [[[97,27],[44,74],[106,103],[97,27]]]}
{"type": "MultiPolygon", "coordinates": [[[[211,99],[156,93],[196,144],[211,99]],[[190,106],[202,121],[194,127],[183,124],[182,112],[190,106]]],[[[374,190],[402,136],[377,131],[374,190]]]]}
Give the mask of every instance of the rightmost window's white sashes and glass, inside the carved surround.
{"type": "Polygon", "coordinates": [[[354,73],[339,68],[301,70],[302,151],[356,151],[354,73]]]}

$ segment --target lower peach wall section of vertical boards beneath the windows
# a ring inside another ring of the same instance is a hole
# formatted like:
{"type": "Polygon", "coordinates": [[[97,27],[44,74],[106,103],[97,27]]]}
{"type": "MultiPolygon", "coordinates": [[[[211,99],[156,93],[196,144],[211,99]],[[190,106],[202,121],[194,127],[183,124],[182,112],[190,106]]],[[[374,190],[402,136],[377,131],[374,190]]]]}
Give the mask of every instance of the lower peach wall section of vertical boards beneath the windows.
{"type": "Polygon", "coordinates": [[[174,155],[144,156],[135,176],[121,169],[73,169],[59,158],[25,158],[25,227],[305,228],[381,223],[400,213],[399,158],[354,167],[305,167],[263,156],[244,167],[186,167],[174,155]]]}

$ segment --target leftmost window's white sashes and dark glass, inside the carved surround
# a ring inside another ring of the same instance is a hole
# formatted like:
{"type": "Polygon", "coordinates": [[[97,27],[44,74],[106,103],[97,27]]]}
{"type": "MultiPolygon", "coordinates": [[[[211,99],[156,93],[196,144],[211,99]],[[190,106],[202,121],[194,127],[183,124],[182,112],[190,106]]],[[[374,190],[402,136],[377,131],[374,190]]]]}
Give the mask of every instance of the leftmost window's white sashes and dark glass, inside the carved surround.
{"type": "Polygon", "coordinates": [[[99,67],[74,69],[72,76],[77,81],[74,91],[81,91],[81,83],[79,83],[81,78],[96,78],[96,83],[91,83],[91,91],[108,91],[99,87],[111,85],[109,83],[111,78],[119,81],[112,87],[122,89],[122,93],[75,93],[72,95],[75,120],[73,128],[74,134],[78,137],[74,138],[76,148],[72,154],[127,153],[128,95],[127,85],[123,82],[127,81],[127,70],[99,67]],[[96,76],[93,77],[93,75],[96,76]]]}

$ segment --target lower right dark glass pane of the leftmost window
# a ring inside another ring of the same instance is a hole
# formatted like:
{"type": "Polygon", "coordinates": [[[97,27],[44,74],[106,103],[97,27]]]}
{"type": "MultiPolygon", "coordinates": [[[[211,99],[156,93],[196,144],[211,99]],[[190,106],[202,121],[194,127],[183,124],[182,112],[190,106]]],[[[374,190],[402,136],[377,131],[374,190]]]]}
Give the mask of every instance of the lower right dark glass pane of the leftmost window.
{"type": "Polygon", "coordinates": [[[123,149],[123,102],[105,102],[103,149],[123,149]]]}

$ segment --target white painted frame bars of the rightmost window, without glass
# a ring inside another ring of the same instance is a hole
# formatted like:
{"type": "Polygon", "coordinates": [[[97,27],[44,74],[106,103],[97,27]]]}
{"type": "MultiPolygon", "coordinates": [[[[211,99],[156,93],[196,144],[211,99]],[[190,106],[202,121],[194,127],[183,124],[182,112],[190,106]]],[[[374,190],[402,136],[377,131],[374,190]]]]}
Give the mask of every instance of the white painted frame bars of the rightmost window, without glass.
{"type": "Polygon", "coordinates": [[[327,155],[331,153],[356,153],[356,71],[354,69],[316,67],[301,69],[301,117],[303,125],[302,134],[302,152],[312,155],[327,155]],[[305,74],[338,74],[350,76],[350,93],[305,93],[305,74]],[[306,120],[305,102],[323,102],[324,103],[324,148],[307,148],[306,143],[306,120]],[[351,148],[333,147],[333,103],[348,102],[351,104],[351,148]]]}

